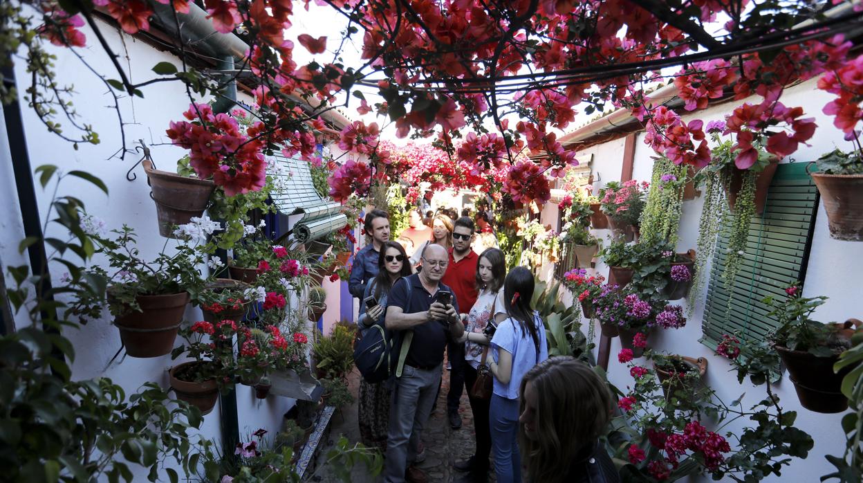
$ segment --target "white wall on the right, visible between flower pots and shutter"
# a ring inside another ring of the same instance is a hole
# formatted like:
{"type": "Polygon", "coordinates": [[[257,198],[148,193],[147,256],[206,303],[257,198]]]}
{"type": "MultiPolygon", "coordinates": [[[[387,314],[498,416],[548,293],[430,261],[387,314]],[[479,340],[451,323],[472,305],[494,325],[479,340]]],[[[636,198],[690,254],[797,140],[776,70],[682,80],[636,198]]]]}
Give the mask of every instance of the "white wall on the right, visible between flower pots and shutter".
{"type": "MultiPolygon", "coordinates": [[[[821,111],[822,106],[830,100],[830,95],[816,89],[816,80],[812,79],[799,86],[789,88],[782,99],[784,105],[802,105],[806,112],[805,117],[816,118],[818,129],[815,137],[809,142],[810,146],[801,145],[800,149],[791,156],[791,160],[783,162],[809,162],[818,156],[836,147],[851,149],[849,143],[843,141],[840,130],[835,129],[831,118],[821,111]]],[[[759,99],[747,99],[749,102],[759,102],[759,99]]],[[[742,102],[742,101],[741,101],[742,102]]],[[[711,107],[706,111],[698,111],[683,117],[684,122],[693,118],[699,118],[707,124],[712,120],[721,120],[734,110],[740,102],[730,102],[725,105],[711,107]]],[[[622,166],[622,139],[594,146],[578,153],[580,159],[587,159],[589,153],[595,153],[594,173],[598,171],[602,181],[595,183],[619,180],[620,168],[622,166]]],[[[653,150],[644,143],[644,135],[641,133],[635,143],[635,159],[633,166],[633,179],[639,181],[650,181],[652,173],[652,156],[656,156],[653,150]]],[[[677,251],[686,251],[696,247],[698,236],[698,219],[701,214],[703,200],[701,197],[695,200],[683,202],[683,215],[678,232],[677,251]]],[[[544,221],[545,222],[545,221],[544,221]]],[[[845,321],[849,317],[860,317],[859,298],[860,274],[863,273],[863,243],[847,242],[829,237],[827,217],[824,209],[819,205],[816,215],[816,229],[812,239],[812,249],[807,266],[806,280],[803,288],[803,296],[828,296],[830,300],[816,310],[815,318],[820,321],[845,321]]],[[[597,236],[606,236],[607,231],[595,231],[597,236]]],[[[608,276],[608,267],[599,261],[596,272],[608,276]]],[[[707,284],[703,290],[706,297],[707,284]]],[[[676,303],[683,303],[680,301],[676,303]]],[[[690,357],[705,357],[709,360],[709,368],[706,382],[727,403],[746,393],[743,399],[743,407],[750,407],[765,397],[764,386],[753,387],[746,381],[738,384],[736,372],[732,372],[732,366],[727,359],[715,356],[712,350],[698,342],[702,336],[703,302],[699,303],[686,327],[677,330],[666,330],[655,332],[650,340],[654,349],[665,353],[677,353],[690,357]]],[[[583,321],[583,330],[587,332],[587,323],[583,321]]],[[[595,343],[599,343],[599,330],[596,330],[595,343]]],[[[627,371],[626,365],[617,362],[617,353],[620,352],[620,339],[614,338],[611,344],[611,357],[608,362],[608,377],[621,390],[633,387],[634,381],[627,371]]],[[[787,374],[779,381],[775,392],[781,399],[784,410],[797,411],[797,422],[795,425],[809,433],[815,440],[815,447],[809,452],[806,460],[794,459],[791,465],[783,471],[784,480],[793,481],[818,481],[819,478],[832,473],[834,467],[824,459],[824,454],[841,455],[845,446],[845,436],[841,430],[841,417],[843,414],[823,415],[803,409],[797,401],[794,386],[788,380],[787,374]],[[792,475],[792,476],[791,476],[792,475]]],[[[734,424],[723,429],[722,433],[731,430],[737,433],[742,426],[734,424]]],[[[695,479],[695,480],[709,480],[695,479]]],[[[767,481],[778,481],[780,478],[772,477],[767,481]]]]}

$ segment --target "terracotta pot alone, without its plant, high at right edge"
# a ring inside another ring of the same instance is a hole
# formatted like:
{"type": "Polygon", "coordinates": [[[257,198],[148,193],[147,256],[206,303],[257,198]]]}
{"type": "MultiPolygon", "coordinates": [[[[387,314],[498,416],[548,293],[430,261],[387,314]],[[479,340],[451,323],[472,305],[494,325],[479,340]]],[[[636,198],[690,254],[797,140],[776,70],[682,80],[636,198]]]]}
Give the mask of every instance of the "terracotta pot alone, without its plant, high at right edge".
{"type": "Polygon", "coordinates": [[[863,175],[810,175],[821,193],[830,236],[863,241],[863,175]]]}

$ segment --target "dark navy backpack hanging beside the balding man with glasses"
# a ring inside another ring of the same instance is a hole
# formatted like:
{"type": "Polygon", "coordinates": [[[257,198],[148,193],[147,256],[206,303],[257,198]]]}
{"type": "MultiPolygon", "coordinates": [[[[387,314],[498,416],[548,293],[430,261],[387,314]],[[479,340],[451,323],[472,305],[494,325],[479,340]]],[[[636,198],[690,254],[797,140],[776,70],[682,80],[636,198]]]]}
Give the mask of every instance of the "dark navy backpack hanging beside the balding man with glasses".
{"type": "MultiPolygon", "coordinates": [[[[407,283],[407,300],[411,299],[411,283],[407,283]]],[[[391,331],[382,322],[362,331],[362,338],[354,345],[354,364],[362,378],[371,384],[386,381],[390,376],[401,375],[407,350],[413,340],[412,331],[391,331]],[[402,340],[402,334],[405,334],[402,340]],[[396,359],[395,354],[399,354],[396,359]]]]}

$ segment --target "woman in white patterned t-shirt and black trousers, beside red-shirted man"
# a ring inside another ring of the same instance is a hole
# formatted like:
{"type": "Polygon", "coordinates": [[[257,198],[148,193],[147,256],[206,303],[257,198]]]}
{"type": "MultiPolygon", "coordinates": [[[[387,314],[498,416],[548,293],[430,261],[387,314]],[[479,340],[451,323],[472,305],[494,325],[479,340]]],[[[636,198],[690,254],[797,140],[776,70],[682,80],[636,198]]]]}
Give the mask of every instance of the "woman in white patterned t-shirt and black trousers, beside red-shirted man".
{"type": "MultiPolygon", "coordinates": [[[[476,382],[482,353],[488,351],[488,343],[491,341],[484,334],[486,327],[489,323],[496,326],[498,321],[507,317],[503,301],[498,297],[506,276],[507,264],[503,252],[496,248],[483,251],[476,261],[476,289],[479,291],[479,296],[474,306],[470,308],[468,324],[463,336],[464,359],[468,363],[464,366],[464,386],[468,388],[470,410],[474,413],[476,453],[467,460],[456,462],[457,470],[469,472],[462,481],[485,482],[487,479],[488,456],[491,454],[491,432],[488,428],[489,400],[470,397],[470,388],[476,382]]],[[[491,362],[491,353],[487,353],[487,366],[489,362],[491,362]]]]}

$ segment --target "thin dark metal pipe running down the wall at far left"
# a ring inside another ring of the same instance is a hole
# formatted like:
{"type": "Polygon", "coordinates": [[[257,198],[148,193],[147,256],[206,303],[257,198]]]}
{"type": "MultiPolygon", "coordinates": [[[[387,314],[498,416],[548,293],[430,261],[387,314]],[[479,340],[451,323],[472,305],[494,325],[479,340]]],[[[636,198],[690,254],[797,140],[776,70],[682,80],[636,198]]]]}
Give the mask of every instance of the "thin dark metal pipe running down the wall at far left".
{"type": "MultiPolygon", "coordinates": [[[[15,87],[15,71],[11,67],[3,68],[3,84],[7,87],[15,87]]],[[[24,136],[24,123],[21,116],[21,105],[17,99],[3,108],[3,118],[6,122],[6,133],[9,137],[9,155],[12,157],[12,168],[15,174],[15,185],[18,192],[18,204],[21,206],[21,220],[24,226],[25,237],[36,237],[39,239],[35,244],[28,246],[27,252],[30,260],[30,270],[33,274],[46,274],[42,283],[36,286],[36,298],[54,301],[51,295],[51,274],[47,269],[47,251],[40,225],[39,206],[36,204],[36,189],[33,183],[33,169],[30,167],[30,156],[27,152],[27,138],[24,136]]],[[[43,320],[57,320],[57,311],[47,309],[41,311],[43,320]]],[[[12,321],[9,321],[12,322],[12,321]]],[[[12,322],[14,324],[14,322],[12,322]]],[[[14,327],[14,325],[10,326],[14,327]]],[[[59,334],[57,327],[47,324],[42,325],[42,330],[47,334],[59,334]]],[[[63,353],[57,346],[52,346],[51,353],[58,359],[64,359],[63,353]]],[[[52,368],[54,372],[54,368],[52,368]]]]}

